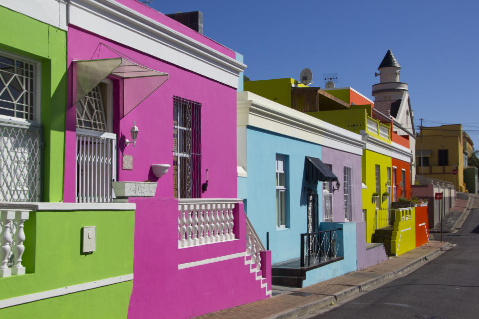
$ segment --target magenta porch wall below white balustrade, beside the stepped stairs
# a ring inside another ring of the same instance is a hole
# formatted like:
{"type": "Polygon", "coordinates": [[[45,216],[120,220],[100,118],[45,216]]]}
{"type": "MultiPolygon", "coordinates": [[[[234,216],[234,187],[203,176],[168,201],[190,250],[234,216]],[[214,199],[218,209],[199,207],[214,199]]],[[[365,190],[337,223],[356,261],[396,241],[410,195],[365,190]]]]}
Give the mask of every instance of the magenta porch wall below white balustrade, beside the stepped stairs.
{"type": "MultiPolygon", "coordinates": [[[[244,256],[178,269],[182,263],[245,251],[242,203],[234,210],[234,233],[240,239],[179,249],[177,200],[157,197],[130,201],[136,203],[136,211],[129,319],[191,318],[266,299],[266,288],[260,288],[260,280],[250,273],[244,256]]],[[[270,252],[262,257],[263,266],[271,267],[270,252]]]]}

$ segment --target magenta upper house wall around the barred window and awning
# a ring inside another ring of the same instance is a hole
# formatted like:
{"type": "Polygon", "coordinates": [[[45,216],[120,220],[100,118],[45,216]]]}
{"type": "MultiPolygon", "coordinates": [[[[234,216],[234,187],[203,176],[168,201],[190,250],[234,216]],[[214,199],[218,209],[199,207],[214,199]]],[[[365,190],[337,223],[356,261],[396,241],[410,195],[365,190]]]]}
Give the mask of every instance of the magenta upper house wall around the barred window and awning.
{"type": "MultiPolygon", "coordinates": [[[[134,1],[127,1],[134,3],[134,1]]],[[[143,5],[142,5],[143,7],[143,5]]],[[[151,10],[146,8],[147,10],[151,10]]],[[[165,17],[165,19],[169,19],[165,17]]],[[[153,163],[173,165],[173,96],[202,103],[202,167],[201,182],[206,180],[209,168],[208,190],[202,197],[236,198],[236,90],[188,70],[179,68],[160,59],[137,52],[134,49],[109,41],[95,34],[69,25],[68,76],[69,95],[66,110],[65,141],[65,182],[64,201],[75,201],[76,111],[72,106],[72,60],[91,59],[100,42],[131,57],[139,63],[169,74],[169,79],[153,94],[146,98],[132,112],[120,118],[122,87],[120,80],[114,80],[114,133],[118,139],[118,179],[119,181],[158,180],[156,196],[173,196],[173,169],[157,179],[151,172],[153,163]],[[130,128],[136,121],[139,128],[136,147],[124,147],[124,139],[130,138],[130,128]],[[221,134],[220,134],[221,133],[221,134]],[[124,135],[124,137],[122,137],[124,135]],[[122,170],[121,156],[133,156],[133,170],[122,170]]],[[[201,36],[201,35],[197,35],[201,36]]],[[[118,57],[109,49],[101,49],[95,58],[118,57]]]]}

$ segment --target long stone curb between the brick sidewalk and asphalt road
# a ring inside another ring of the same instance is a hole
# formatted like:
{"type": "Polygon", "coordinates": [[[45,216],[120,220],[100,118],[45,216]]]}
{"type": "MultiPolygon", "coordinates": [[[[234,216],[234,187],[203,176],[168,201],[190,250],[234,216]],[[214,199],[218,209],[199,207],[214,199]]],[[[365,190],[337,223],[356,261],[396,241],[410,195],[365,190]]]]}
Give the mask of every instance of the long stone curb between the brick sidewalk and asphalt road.
{"type": "Polygon", "coordinates": [[[368,288],[377,286],[383,282],[385,282],[388,279],[394,278],[399,276],[400,274],[410,270],[417,264],[421,264],[430,260],[433,260],[434,258],[438,257],[439,255],[442,254],[443,251],[449,250],[453,245],[450,243],[446,243],[445,246],[441,248],[437,248],[436,250],[432,251],[431,253],[427,254],[426,256],[422,257],[421,259],[417,259],[410,264],[402,267],[401,269],[397,269],[395,271],[392,271],[387,274],[380,275],[374,279],[368,280],[360,285],[356,285],[350,288],[347,288],[343,291],[340,291],[334,295],[328,296],[326,298],[311,302],[309,304],[299,306],[287,311],[284,311],[280,314],[276,314],[273,316],[266,317],[265,319],[294,319],[294,318],[300,318],[302,316],[307,315],[308,313],[312,313],[315,311],[318,311],[326,306],[331,305],[331,303],[336,303],[340,302],[341,300],[344,300],[346,297],[349,297],[354,294],[358,294],[360,292],[365,291],[368,288]]]}

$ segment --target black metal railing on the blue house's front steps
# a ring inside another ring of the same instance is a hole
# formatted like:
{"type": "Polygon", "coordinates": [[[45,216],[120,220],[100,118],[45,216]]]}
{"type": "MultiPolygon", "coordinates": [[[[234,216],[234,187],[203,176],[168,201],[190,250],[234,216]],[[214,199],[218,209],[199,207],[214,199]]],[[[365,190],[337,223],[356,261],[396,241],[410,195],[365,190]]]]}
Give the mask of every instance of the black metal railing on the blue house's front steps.
{"type": "Polygon", "coordinates": [[[338,230],[342,228],[322,230],[300,234],[301,237],[301,267],[308,267],[336,258],[339,248],[338,230]]]}

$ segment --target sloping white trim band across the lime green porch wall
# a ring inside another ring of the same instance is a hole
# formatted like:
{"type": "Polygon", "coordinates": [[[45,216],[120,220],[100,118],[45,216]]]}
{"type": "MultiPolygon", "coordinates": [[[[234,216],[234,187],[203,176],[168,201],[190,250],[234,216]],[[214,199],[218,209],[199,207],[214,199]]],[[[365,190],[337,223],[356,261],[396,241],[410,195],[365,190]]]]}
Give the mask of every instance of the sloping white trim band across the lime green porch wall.
{"type": "Polygon", "coordinates": [[[85,290],[90,290],[94,288],[109,286],[109,285],[118,284],[118,283],[131,281],[131,280],[133,280],[133,274],[128,274],[128,275],[123,275],[118,277],[95,280],[89,283],[83,283],[83,284],[66,286],[66,287],[52,289],[52,290],[46,290],[40,293],[34,293],[34,294],[23,295],[19,297],[3,299],[3,300],[0,300],[0,309],[16,306],[16,305],[21,305],[21,304],[26,304],[26,303],[31,303],[31,302],[42,300],[42,299],[77,293],[79,291],[85,291],[85,290]]]}

